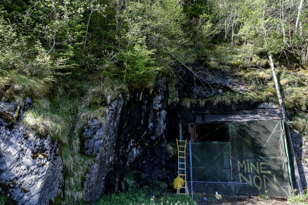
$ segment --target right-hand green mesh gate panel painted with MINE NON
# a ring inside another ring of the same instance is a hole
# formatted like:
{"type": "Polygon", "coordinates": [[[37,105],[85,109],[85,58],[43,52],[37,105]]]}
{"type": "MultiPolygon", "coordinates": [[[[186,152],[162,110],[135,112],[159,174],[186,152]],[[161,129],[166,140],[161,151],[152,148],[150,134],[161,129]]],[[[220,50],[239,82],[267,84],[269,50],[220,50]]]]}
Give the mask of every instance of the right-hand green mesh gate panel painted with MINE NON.
{"type": "Polygon", "coordinates": [[[281,121],[232,122],[229,131],[234,180],[249,185],[235,193],[290,195],[281,121]]]}

